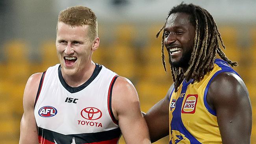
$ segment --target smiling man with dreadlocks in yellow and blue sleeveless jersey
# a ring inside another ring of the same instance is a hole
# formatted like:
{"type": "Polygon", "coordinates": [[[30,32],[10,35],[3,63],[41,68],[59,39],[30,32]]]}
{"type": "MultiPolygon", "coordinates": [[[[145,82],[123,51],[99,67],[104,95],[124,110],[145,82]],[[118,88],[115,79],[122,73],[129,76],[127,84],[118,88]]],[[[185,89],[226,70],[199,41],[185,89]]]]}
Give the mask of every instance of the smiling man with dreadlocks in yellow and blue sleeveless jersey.
{"type": "Polygon", "coordinates": [[[229,66],[237,63],[219,46],[218,39],[225,48],[211,14],[182,3],[171,9],[156,37],[162,30],[163,66],[165,46],[174,83],[165,98],[145,114],[151,141],[169,134],[170,144],[249,144],[249,94],[229,66]]]}

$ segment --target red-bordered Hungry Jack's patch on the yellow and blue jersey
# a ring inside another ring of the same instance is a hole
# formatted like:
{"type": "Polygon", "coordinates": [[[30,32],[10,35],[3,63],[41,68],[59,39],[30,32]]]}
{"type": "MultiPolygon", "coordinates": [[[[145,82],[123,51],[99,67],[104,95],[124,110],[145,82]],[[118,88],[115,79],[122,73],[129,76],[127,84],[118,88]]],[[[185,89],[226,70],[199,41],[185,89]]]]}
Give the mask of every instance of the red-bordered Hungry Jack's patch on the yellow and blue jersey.
{"type": "Polygon", "coordinates": [[[197,94],[188,94],[181,113],[195,113],[197,106],[197,94]]]}

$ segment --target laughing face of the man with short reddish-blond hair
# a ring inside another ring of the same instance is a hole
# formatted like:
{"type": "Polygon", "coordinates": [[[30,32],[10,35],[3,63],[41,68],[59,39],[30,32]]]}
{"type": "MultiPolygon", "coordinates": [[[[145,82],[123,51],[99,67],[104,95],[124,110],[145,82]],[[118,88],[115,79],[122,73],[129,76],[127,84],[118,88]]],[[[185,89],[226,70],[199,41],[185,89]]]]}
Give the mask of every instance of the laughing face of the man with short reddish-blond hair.
{"type": "Polygon", "coordinates": [[[98,48],[98,37],[91,41],[89,26],[70,26],[58,22],[56,49],[63,75],[73,76],[83,73],[91,63],[93,51],[98,48]]]}

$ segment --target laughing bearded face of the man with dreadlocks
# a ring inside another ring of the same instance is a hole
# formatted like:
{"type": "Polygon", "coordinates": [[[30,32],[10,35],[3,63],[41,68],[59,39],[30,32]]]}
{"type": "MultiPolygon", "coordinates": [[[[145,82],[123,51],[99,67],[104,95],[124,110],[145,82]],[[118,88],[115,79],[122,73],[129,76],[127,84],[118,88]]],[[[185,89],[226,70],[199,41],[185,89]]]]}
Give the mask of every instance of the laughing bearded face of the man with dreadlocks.
{"type": "Polygon", "coordinates": [[[186,13],[172,13],[164,29],[164,45],[174,67],[187,68],[194,47],[195,27],[186,13]]]}

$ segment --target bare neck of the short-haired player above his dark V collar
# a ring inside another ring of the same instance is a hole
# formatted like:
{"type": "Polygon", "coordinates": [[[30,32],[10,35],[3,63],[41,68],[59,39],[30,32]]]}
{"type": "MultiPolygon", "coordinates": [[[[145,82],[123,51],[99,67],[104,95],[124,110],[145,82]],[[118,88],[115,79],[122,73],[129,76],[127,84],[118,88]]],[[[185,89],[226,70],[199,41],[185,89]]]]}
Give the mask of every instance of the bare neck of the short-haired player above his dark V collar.
{"type": "Polygon", "coordinates": [[[70,87],[79,87],[83,83],[85,83],[93,74],[93,71],[95,69],[95,63],[91,61],[89,65],[86,65],[83,69],[79,70],[76,72],[74,75],[67,75],[67,74],[62,74],[63,79],[65,82],[70,86],[70,87]]]}

